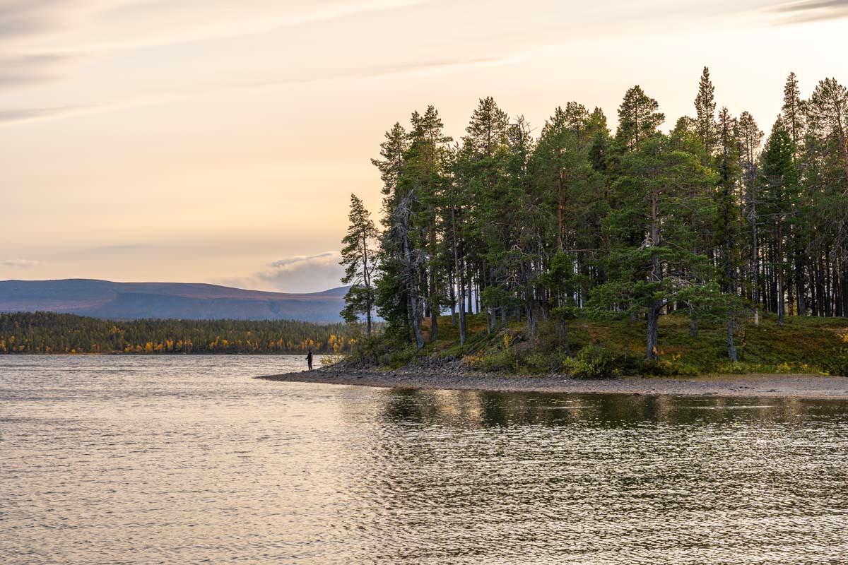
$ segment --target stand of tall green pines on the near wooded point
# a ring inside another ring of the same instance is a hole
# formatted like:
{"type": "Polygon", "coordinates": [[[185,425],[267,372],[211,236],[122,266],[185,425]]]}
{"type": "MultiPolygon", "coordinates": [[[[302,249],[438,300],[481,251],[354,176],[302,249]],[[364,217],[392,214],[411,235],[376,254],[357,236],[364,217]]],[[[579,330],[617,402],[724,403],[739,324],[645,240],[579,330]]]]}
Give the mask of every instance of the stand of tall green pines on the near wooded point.
{"type": "Polygon", "coordinates": [[[693,335],[726,323],[735,360],[738,324],[761,311],[848,315],[845,86],[802,98],[789,75],[767,136],[750,113],[717,110],[706,68],[695,115],[667,133],[639,86],[617,117],[613,132],[600,108],[568,102],[534,136],[487,97],[459,141],[432,106],[393,125],[373,160],[382,230],[353,197],[348,319],[376,307],[419,348],[439,313],[462,342],[468,313],[490,329],[523,319],[531,336],[554,320],[567,347],[576,315],[630,317],[650,360],[661,316],[682,311],[693,335]]]}

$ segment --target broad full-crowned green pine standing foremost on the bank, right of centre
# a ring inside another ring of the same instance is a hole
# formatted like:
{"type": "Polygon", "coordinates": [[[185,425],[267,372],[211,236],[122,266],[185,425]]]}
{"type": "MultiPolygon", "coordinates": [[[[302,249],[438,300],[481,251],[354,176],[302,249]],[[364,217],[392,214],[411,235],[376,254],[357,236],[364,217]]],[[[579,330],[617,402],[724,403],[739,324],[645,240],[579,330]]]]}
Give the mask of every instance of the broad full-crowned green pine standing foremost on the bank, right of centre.
{"type": "Polygon", "coordinates": [[[690,184],[708,183],[700,159],[673,150],[666,136],[644,139],[622,158],[616,183],[618,207],[605,219],[605,233],[618,242],[610,252],[610,281],[594,289],[594,307],[646,321],[645,358],[659,355],[659,319],[672,302],[702,302],[711,285],[696,285],[692,273],[706,274],[706,257],[689,250],[696,237],[678,213],[689,205],[690,184]]]}

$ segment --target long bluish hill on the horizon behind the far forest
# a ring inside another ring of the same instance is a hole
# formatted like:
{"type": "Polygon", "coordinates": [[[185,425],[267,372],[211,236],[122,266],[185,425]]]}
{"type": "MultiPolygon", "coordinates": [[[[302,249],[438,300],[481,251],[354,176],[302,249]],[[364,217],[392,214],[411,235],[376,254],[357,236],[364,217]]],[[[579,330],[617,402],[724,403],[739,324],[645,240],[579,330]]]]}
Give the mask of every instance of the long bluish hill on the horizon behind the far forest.
{"type": "Polygon", "coordinates": [[[2,280],[0,312],[58,312],[107,319],[296,319],[338,322],[347,287],[288,294],[192,283],[2,280]]]}

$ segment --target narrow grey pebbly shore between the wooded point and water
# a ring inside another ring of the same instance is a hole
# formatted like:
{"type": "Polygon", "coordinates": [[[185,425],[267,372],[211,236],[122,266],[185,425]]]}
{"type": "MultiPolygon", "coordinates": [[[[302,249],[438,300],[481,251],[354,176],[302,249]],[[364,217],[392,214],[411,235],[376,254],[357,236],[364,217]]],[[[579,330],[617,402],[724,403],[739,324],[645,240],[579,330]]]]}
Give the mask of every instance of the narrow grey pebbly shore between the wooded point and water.
{"type": "Polygon", "coordinates": [[[696,378],[575,380],[567,375],[538,377],[466,372],[361,368],[319,368],[310,373],[257,377],[284,382],[325,383],[460,391],[571,392],[671,396],[795,397],[848,400],[848,378],[810,374],[745,374],[696,378]]]}

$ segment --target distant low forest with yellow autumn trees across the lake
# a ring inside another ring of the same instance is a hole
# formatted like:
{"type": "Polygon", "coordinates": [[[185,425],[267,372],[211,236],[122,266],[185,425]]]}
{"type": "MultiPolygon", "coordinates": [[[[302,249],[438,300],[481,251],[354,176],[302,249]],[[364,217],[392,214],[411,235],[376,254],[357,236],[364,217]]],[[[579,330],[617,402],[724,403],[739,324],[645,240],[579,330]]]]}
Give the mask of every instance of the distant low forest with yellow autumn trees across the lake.
{"type": "Polygon", "coordinates": [[[350,351],[354,328],[294,320],[142,319],[0,313],[0,353],[316,353],[350,351]]]}

